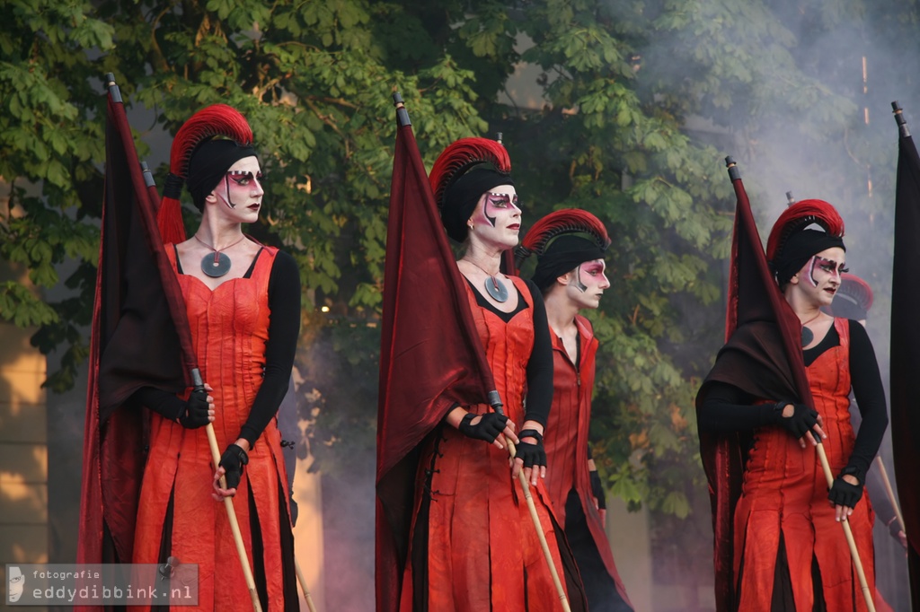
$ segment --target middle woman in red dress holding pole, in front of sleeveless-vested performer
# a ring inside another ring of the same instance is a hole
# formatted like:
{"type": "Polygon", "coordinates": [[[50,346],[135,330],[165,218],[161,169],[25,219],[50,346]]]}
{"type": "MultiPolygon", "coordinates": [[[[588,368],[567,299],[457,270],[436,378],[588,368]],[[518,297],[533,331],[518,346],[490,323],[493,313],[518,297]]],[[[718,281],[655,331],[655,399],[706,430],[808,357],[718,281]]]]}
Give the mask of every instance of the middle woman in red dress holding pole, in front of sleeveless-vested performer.
{"type": "Polygon", "coordinates": [[[500,143],[463,139],[431,170],[443,226],[464,245],[457,267],[504,414],[487,404],[448,405],[422,442],[399,607],[404,612],[561,609],[518,470],[530,483],[571,608],[584,609],[564,539],[560,556],[543,481],[543,432],[553,391],[546,311],[532,283],[499,271],[502,253],[518,244],[521,228],[510,169],[500,143]],[[506,440],[517,445],[513,461],[506,440]]]}

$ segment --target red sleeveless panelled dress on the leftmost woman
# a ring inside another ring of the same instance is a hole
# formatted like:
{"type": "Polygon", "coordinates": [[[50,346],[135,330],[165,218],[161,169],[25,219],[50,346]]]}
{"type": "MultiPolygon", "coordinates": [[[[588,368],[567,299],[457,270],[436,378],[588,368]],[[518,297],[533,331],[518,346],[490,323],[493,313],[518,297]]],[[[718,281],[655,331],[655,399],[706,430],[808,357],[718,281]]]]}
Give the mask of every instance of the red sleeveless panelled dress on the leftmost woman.
{"type": "MultiPolygon", "coordinates": [[[[198,278],[177,275],[201,376],[214,389],[211,394],[217,418],[213,427],[221,452],[236,441],[262,384],[269,330],[269,277],[277,252],[275,248],[262,247],[249,278],[227,280],[213,290],[198,278]]],[[[167,245],[167,255],[176,268],[176,253],[171,245],[167,245]]],[[[250,606],[224,503],[211,497],[214,466],[205,428],[186,429],[152,414],[150,438],[133,562],[157,562],[172,495],[169,554],[181,563],[197,563],[199,572],[199,605],[180,609],[223,611],[250,606]]],[[[282,528],[291,528],[281,526],[279,518],[279,504],[286,503],[288,496],[281,448],[277,420],[272,419],[249,451],[249,463],[233,498],[250,567],[250,496],[255,501],[264,543],[261,561],[269,610],[284,609],[282,554],[275,543],[281,541],[282,528]],[[279,499],[279,486],[283,499],[279,499]]]]}

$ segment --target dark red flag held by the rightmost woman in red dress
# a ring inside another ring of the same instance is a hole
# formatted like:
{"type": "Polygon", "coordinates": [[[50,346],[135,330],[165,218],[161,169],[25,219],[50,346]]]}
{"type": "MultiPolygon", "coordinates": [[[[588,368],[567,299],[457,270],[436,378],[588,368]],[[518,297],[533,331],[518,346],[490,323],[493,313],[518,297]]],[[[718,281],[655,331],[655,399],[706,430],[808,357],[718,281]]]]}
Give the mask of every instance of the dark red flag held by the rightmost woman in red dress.
{"type": "MultiPolygon", "coordinates": [[[[767,265],[738,168],[730,158],[727,162],[737,203],[725,322],[728,344],[722,351],[736,352],[737,358],[729,363],[737,366],[719,368],[717,362],[717,368],[713,368],[697,394],[697,405],[706,396],[707,383],[713,380],[730,382],[758,397],[795,398],[811,405],[799,317],[783,298],[767,265]]],[[[700,432],[699,436],[712,505],[716,609],[723,612],[733,609],[736,598],[732,526],[741,494],[743,444],[738,434],[716,436],[700,432]]]]}

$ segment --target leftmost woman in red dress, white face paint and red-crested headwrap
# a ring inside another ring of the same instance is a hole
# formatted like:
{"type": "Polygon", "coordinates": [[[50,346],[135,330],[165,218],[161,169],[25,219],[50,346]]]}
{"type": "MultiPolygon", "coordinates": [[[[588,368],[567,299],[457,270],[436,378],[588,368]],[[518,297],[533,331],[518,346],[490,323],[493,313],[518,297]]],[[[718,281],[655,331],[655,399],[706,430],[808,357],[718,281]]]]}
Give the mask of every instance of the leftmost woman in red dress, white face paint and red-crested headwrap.
{"type": "Polygon", "coordinates": [[[226,496],[236,498],[262,609],[299,609],[275,415],[299,335],[300,275],[291,255],[243,233],[265,195],[251,143],[246,119],[225,105],[202,109],[176,134],[165,198],[178,200],[184,183],[201,223],[189,240],[167,244],[167,255],[206,391],[177,397],[143,388],[132,396],[152,412],[133,562],[198,564],[199,610],[249,601],[224,504],[216,503],[226,496]],[[216,471],[208,423],[225,448],[216,471]]]}

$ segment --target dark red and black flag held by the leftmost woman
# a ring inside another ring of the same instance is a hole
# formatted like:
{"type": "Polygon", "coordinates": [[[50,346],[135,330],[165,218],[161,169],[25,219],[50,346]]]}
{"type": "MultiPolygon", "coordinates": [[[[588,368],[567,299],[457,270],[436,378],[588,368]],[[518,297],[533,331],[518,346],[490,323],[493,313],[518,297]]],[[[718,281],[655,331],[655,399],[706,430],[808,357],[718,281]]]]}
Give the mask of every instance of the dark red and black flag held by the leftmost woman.
{"type": "Polygon", "coordinates": [[[156,227],[121,94],[110,75],[108,86],[77,549],[81,563],[132,560],[145,414],[122,404],[144,385],[184,391],[190,386],[193,355],[181,291],[156,227]],[[176,312],[185,334],[174,323],[176,312]]]}

